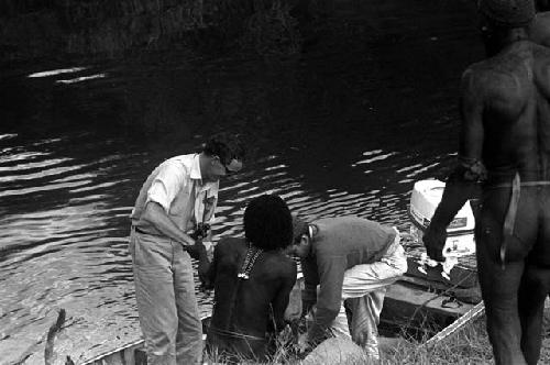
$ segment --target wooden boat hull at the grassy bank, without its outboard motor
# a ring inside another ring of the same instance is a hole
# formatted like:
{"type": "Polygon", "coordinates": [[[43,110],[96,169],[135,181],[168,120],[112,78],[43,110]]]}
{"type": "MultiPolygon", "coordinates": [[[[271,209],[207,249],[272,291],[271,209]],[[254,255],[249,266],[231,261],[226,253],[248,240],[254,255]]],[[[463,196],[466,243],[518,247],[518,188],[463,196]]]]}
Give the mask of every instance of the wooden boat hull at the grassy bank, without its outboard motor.
{"type": "MultiPolygon", "coordinates": [[[[418,257],[408,257],[408,272],[398,281],[392,285],[384,300],[381,314],[381,334],[395,335],[406,330],[408,334],[416,333],[424,336],[436,336],[457,321],[469,321],[476,312],[479,316],[481,297],[475,272],[463,266],[451,270],[451,280],[446,280],[438,273],[438,268],[428,268],[427,274],[418,270],[418,257]],[[447,281],[447,283],[446,283],[447,281]]],[[[440,269],[439,269],[440,270],[440,269]]],[[[292,302],[300,302],[301,277],[292,292],[292,302]]],[[[296,307],[296,306],[295,306],[296,307]]],[[[292,314],[301,309],[289,308],[292,314]]],[[[202,319],[206,330],[208,318],[202,319]]],[[[205,331],[206,333],[206,331],[205,331]]],[[[206,338],[206,335],[205,335],[206,338]]],[[[433,341],[432,341],[433,342],[433,341]]],[[[82,365],[145,365],[146,356],[143,350],[143,340],[128,343],[119,349],[99,354],[86,360],[82,365]]]]}

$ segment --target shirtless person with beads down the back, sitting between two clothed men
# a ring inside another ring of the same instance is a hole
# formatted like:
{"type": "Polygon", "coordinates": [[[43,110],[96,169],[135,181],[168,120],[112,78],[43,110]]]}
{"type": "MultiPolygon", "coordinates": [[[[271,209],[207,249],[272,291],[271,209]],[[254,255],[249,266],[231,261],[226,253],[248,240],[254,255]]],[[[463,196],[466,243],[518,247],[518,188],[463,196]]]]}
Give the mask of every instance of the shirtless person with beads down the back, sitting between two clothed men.
{"type": "Polygon", "coordinates": [[[210,352],[224,361],[265,361],[266,332],[280,331],[296,263],[284,254],[293,239],[293,219],[277,196],[250,201],[244,211],[244,239],[220,240],[208,263],[200,253],[199,275],[215,288],[213,313],[207,335],[210,352]]]}

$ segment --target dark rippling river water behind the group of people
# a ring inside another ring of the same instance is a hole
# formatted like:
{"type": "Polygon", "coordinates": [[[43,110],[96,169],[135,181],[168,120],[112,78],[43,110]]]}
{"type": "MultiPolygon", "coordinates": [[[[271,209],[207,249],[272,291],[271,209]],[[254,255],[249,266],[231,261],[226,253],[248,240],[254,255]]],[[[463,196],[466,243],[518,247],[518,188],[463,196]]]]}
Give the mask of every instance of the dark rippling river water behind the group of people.
{"type": "MultiPolygon", "coordinates": [[[[418,179],[457,151],[459,79],[483,57],[471,1],[350,2],[299,55],[160,54],[2,70],[0,364],[55,342],[90,358],[140,338],[129,214],[148,173],[212,131],[242,133],[245,169],[222,181],[215,234],[246,201],[280,195],[308,218],[358,214],[408,229],[418,179]]],[[[199,294],[202,314],[210,297],[199,294]]]]}

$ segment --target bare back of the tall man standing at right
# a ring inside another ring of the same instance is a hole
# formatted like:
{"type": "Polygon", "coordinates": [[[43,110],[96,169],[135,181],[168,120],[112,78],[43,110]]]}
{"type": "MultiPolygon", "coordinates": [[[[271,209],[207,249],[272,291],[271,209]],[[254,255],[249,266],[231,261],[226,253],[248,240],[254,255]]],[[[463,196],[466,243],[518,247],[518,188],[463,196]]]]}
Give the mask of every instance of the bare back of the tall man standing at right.
{"type": "Polygon", "coordinates": [[[482,159],[490,175],[548,180],[550,49],[513,43],[463,75],[461,155],[482,159]]]}

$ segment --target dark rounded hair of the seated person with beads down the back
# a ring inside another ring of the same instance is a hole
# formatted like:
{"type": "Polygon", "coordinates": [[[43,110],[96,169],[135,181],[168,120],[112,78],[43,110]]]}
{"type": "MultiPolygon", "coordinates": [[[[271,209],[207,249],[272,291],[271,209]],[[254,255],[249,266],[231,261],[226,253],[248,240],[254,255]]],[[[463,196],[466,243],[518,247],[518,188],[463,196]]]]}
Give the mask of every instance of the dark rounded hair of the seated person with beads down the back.
{"type": "Polygon", "coordinates": [[[275,195],[252,199],[244,210],[244,234],[265,251],[287,247],[293,241],[293,217],[286,202],[275,195]]]}

